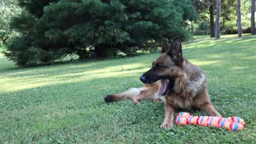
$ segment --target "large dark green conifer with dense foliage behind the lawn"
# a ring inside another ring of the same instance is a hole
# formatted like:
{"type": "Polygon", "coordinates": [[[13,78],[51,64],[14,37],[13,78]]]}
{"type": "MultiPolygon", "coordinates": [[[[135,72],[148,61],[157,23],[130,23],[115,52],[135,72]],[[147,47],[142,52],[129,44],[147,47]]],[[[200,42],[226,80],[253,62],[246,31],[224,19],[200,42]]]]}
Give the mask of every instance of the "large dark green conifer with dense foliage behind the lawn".
{"type": "Polygon", "coordinates": [[[88,58],[147,50],[163,38],[189,38],[196,19],[190,0],[20,0],[25,10],[10,23],[20,32],[5,55],[18,65],[53,62],[68,54],[88,58]]]}

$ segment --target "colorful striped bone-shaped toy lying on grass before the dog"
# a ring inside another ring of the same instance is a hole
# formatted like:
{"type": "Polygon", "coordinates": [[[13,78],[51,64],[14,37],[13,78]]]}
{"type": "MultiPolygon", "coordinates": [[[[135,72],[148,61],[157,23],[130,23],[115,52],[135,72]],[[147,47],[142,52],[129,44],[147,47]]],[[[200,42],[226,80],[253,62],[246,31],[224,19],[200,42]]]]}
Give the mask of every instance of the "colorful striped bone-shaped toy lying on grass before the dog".
{"type": "Polygon", "coordinates": [[[226,128],[232,131],[245,129],[245,121],[240,117],[213,117],[213,116],[193,116],[187,112],[181,112],[175,119],[177,125],[203,125],[217,128],[226,128]]]}

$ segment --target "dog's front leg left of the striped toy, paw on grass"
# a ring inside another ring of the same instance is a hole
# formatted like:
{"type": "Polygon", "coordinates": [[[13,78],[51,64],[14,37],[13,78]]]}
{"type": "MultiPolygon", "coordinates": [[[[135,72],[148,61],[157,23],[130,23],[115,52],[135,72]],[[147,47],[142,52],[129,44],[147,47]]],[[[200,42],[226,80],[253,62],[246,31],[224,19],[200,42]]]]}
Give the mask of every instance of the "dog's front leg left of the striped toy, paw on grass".
{"type": "Polygon", "coordinates": [[[174,115],[174,108],[171,104],[166,103],[165,105],[165,119],[164,122],[161,124],[161,128],[163,129],[170,129],[173,125],[173,115],[174,115]]]}

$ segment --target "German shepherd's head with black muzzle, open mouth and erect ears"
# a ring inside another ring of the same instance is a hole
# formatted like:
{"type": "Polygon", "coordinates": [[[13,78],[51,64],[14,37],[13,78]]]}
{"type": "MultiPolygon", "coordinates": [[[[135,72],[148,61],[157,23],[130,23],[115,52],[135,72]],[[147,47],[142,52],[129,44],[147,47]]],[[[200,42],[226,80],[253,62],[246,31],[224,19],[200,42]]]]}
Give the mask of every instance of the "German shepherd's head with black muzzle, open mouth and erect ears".
{"type": "Polygon", "coordinates": [[[179,37],[174,38],[171,46],[168,39],[164,39],[161,55],[153,62],[152,68],[140,77],[140,80],[147,84],[161,80],[160,93],[166,95],[172,91],[175,77],[181,75],[182,64],[181,39],[179,37]]]}

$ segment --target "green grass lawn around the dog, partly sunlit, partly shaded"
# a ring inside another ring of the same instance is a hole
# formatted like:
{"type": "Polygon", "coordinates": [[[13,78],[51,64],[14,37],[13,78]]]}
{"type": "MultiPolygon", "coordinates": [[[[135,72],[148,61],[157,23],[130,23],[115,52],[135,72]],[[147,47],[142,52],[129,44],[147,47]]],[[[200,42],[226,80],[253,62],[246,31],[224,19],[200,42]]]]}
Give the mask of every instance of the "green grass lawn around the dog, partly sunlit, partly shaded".
{"type": "Polygon", "coordinates": [[[245,131],[175,124],[164,130],[164,105],[148,100],[104,103],[106,94],[142,86],[139,76],[159,53],[24,69],[0,56],[0,142],[254,143],[256,37],[201,37],[183,47],[184,57],[206,71],[217,111],[243,118],[245,131]]]}

